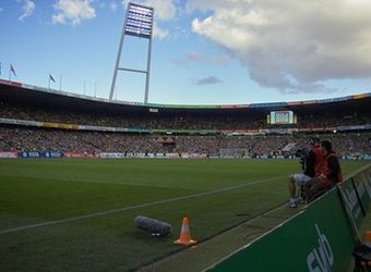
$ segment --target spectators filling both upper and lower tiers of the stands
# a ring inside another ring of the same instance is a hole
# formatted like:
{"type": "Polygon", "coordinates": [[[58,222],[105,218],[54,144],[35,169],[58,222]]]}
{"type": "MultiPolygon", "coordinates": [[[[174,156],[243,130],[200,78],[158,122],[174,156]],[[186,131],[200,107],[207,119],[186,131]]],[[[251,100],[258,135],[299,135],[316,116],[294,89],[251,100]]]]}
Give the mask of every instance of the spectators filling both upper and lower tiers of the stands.
{"type": "MultiPolygon", "coordinates": [[[[76,110],[16,104],[0,100],[0,119],[51,122],[125,128],[213,131],[204,135],[171,135],[170,141],[160,134],[128,134],[98,131],[40,128],[0,124],[0,151],[59,151],[59,152],[128,152],[128,153],[207,153],[223,157],[226,150],[239,150],[237,156],[294,156],[296,149],[308,146],[310,135],[246,135],[228,136],[220,131],[270,128],[266,115],[260,114],[137,114],[85,112],[76,110]],[[285,150],[290,145],[291,148],[285,150]],[[284,151],[285,150],[285,151],[284,151]]],[[[279,127],[334,127],[371,124],[371,112],[347,110],[325,115],[299,114],[298,123],[279,127]]],[[[277,126],[275,127],[277,128],[277,126]]],[[[327,131],[328,133],[328,131],[327,131]]],[[[331,133],[320,135],[333,141],[337,153],[344,157],[371,156],[371,133],[331,133]]],[[[234,153],[234,152],[229,152],[234,153]]]]}

